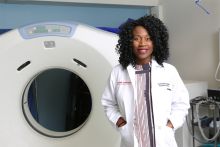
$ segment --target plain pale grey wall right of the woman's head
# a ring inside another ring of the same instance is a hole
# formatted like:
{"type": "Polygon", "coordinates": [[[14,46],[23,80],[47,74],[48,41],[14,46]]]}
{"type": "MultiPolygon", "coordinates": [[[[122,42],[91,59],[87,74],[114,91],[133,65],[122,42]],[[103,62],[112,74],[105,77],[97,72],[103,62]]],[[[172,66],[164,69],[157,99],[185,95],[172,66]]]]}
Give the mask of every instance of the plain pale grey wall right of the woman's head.
{"type": "Polygon", "coordinates": [[[185,80],[207,81],[219,88],[214,74],[219,61],[220,1],[202,0],[205,13],[195,0],[159,0],[170,33],[170,60],[185,80]]]}

